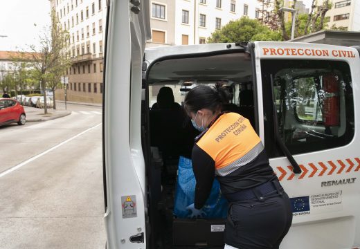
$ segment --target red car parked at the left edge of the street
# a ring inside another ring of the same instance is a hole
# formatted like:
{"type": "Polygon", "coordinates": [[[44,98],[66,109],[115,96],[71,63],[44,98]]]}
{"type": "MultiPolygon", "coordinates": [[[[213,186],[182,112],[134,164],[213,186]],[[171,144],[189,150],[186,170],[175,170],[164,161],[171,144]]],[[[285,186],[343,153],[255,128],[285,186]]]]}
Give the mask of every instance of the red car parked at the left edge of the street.
{"type": "Polygon", "coordinates": [[[24,125],[26,114],[24,107],[17,100],[9,98],[0,98],[0,125],[17,122],[24,125]]]}

